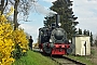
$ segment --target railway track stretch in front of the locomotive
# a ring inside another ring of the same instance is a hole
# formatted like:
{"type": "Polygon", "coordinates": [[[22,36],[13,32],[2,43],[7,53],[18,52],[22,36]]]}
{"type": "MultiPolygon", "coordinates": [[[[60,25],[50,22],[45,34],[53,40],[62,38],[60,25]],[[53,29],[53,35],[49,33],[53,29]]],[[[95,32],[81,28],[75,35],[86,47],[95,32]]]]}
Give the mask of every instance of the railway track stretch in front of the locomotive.
{"type": "Polygon", "coordinates": [[[51,58],[56,63],[58,63],[59,65],[86,65],[84,63],[69,58],[67,56],[53,56],[51,58]]]}

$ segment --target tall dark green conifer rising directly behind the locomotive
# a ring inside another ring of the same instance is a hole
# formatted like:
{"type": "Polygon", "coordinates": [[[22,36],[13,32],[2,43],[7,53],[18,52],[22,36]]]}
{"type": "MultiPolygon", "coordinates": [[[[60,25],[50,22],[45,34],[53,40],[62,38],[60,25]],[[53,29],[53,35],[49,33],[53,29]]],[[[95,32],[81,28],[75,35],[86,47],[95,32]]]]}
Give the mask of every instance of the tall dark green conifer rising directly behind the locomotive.
{"type": "MultiPolygon", "coordinates": [[[[77,34],[75,26],[79,24],[75,22],[78,17],[74,17],[72,12],[72,1],[70,0],[57,0],[53,2],[53,5],[50,8],[51,10],[57,12],[60,15],[61,27],[67,31],[68,39],[71,39],[72,35],[77,34]]],[[[45,25],[51,25],[51,23],[55,22],[55,17],[45,17],[45,25]]]]}

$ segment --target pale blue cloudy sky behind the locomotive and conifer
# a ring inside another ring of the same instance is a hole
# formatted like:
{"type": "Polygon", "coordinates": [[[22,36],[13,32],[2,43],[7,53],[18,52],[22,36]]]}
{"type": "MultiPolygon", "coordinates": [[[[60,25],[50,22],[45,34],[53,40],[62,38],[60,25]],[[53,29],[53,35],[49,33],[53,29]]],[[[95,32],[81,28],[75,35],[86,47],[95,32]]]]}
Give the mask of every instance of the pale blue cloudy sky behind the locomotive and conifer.
{"type": "MultiPolygon", "coordinates": [[[[30,15],[26,23],[20,22],[20,27],[32,36],[33,42],[37,42],[39,28],[43,27],[44,17],[48,14],[55,14],[48,8],[56,0],[38,0],[32,4],[30,15]]],[[[88,29],[93,35],[97,34],[97,0],[71,0],[73,1],[72,11],[78,17],[79,25],[77,28],[88,29]]]]}

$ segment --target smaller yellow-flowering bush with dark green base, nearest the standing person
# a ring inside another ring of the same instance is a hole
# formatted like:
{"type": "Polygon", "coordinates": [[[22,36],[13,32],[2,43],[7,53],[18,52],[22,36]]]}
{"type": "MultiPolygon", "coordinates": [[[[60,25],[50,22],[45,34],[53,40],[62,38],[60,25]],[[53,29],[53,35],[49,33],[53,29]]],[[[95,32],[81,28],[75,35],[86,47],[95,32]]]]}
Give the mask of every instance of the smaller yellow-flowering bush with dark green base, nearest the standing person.
{"type": "Polygon", "coordinates": [[[13,51],[13,57],[15,60],[26,55],[28,50],[28,40],[23,29],[16,29],[13,31],[13,38],[15,43],[15,50],[13,51]]]}

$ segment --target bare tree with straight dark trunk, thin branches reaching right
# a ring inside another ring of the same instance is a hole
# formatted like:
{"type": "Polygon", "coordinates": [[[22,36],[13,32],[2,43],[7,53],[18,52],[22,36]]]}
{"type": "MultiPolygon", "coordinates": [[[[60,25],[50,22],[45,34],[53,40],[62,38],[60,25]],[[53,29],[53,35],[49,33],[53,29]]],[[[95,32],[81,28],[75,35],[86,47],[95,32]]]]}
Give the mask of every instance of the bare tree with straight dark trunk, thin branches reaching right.
{"type": "Polygon", "coordinates": [[[23,21],[27,22],[30,6],[32,5],[31,2],[34,2],[33,0],[15,0],[14,4],[14,29],[18,28],[19,24],[17,22],[17,15],[22,14],[24,17],[23,21]]]}

